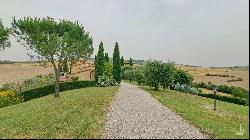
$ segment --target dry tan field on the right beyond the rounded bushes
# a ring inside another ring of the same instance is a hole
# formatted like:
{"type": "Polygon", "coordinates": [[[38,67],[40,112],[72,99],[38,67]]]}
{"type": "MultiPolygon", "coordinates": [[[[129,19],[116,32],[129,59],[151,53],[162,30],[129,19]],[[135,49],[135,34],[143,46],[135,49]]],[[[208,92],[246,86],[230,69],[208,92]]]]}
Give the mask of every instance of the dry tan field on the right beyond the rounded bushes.
{"type": "Polygon", "coordinates": [[[191,75],[194,76],[195,82],[211,82],[217,85],[228,85],[242,87],[249,89],[249,68],[223,68],[223,67],[191,67],[184,65],[177,65],[177,67],[188,71],[191,75]],[[218,76],[206,76],[206,74],[223,74],[230,75],[234,77],[218,77],[218,76]],[[242,78],[243,81],[227,82],[231,79],[242,78]]]}

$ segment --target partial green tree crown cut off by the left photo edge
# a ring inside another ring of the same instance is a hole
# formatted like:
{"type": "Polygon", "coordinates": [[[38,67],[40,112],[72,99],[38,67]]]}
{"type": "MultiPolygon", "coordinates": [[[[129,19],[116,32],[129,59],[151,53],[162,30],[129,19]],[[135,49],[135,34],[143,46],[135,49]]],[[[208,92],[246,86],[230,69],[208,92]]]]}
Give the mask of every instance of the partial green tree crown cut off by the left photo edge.
{"type": "Polygon", "coordinates": [[[0,51],[10,47],[9,33],[10,30],[3,26],[2,20],[0,19],[0,51]]]}

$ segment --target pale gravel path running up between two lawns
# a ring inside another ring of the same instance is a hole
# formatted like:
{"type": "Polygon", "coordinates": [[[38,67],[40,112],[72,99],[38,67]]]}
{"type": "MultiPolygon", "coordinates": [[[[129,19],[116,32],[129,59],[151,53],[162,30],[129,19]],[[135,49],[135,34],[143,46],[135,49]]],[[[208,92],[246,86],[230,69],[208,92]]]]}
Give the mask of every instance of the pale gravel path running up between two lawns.
{"type": "Polygon", "coordinates": [[[204,139],[209,137],[187,124],[146,91],[128,83],[121,83],[107,115],[102,138],[204,139]]]}

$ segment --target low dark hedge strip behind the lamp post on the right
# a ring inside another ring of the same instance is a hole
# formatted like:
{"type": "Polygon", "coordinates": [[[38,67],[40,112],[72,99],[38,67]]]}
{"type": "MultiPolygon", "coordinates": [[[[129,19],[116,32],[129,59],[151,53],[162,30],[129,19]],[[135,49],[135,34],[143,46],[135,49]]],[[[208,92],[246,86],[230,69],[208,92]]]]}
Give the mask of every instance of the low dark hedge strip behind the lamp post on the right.
{"type": "Polygon", "coordinates": [[[211,98],[211,99],[217,99],[220,101],[225,101],[228,103],[234,103],[234,104],[239,104],[239,105],[244,105],[248,106],[249,102],[247,99],[244,98],[239,98],[239,97],[228,97],[228,96],[220,96],[218,94],[203,94],[203,93],[198,93],[198,96],[206,97],[206,98],[211,98]]]}

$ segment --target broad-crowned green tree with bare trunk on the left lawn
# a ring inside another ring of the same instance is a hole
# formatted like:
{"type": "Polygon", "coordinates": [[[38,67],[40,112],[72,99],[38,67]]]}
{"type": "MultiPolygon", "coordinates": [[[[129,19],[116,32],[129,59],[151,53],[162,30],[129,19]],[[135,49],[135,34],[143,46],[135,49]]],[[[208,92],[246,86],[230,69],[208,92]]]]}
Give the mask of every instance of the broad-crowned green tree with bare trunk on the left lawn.
{"type": "Polygon", "coordinates": [[[92,38],[83,25],[68,20],[47,18],[13,18],[12,30],[18,41],[51,62],[55,72],[55,94],[59,97],[60,67],[65,59],[70,63],[88,59],[93,53],[92,38]]]}

